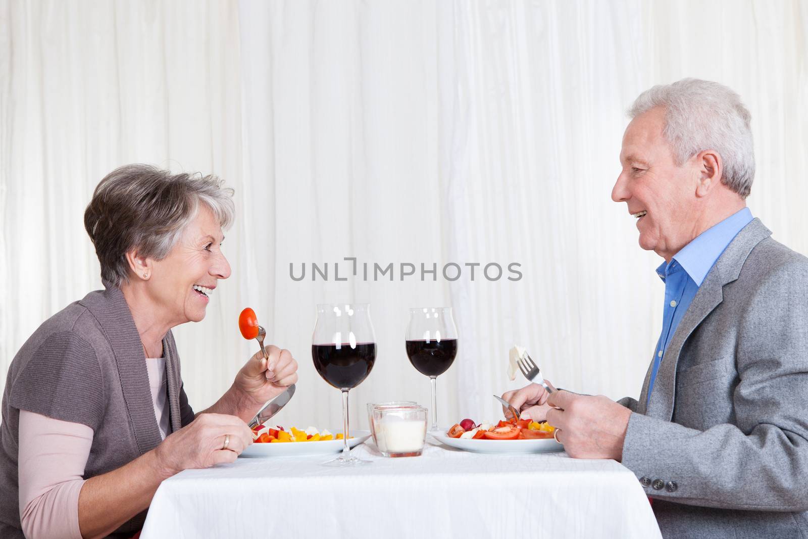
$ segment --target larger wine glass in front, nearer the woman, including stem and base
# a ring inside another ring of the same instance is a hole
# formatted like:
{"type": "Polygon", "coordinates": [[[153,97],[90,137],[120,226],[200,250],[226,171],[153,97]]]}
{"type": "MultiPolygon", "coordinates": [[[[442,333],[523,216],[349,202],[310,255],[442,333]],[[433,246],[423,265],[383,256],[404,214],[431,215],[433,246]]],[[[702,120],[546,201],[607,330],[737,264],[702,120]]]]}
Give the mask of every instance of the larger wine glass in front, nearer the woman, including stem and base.
{"type": "Polygon", "coordinates": [[[348,446],[348,390],[360,385],[376,361],[376,336],[367,303],[317,305],[311,356],[323,380],[343,392],[343,453],[325,465],[370,464],[351,457],[348,446]]]}

